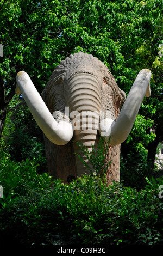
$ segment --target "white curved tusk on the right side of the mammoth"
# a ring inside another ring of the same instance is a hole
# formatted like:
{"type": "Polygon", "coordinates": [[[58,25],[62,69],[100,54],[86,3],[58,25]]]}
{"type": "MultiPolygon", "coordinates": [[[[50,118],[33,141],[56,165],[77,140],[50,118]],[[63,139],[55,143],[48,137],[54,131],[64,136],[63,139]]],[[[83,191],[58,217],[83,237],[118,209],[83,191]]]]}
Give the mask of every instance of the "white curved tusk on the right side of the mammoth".
{"type": "Polygon", "coordinates": [[[144,96],[151,95],[150,78],[151,71],[142,69],[130,89],[116,122],[109,118],[101,121],[99,132],[101,136],[105,136],[105,141],[110,139],[110,145],[121,144],[127,139],[144,96]]]}

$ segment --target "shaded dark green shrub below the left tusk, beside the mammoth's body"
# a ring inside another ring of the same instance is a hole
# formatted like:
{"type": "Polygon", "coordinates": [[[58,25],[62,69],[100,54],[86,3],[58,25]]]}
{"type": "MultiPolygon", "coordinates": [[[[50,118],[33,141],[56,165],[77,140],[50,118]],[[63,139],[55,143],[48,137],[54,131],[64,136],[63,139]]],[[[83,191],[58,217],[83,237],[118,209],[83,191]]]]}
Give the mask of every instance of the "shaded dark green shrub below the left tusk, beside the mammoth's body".
{"type": "Polygon", "coordinates": [[[21,162],[28,158],[37,165],[37,172],[47,171],[43,135],[22,99],[10,101],[0,146],[0,152],[10,159],[21,162]]]}

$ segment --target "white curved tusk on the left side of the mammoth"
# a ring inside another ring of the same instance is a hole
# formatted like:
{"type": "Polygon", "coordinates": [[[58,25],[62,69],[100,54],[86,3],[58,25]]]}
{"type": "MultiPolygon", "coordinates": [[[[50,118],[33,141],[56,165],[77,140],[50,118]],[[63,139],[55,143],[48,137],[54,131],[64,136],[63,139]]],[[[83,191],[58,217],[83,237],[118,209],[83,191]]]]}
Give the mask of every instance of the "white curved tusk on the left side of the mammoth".
{"type": "Polygon", "coordinates": [[[30,112],[46,137],[54,144],[67,144],[73,136],[72,124],[66,120],[59,123],[55,121],[26,72],[18,72],[16,81],[15,93],[22,93],[30,112]]]}

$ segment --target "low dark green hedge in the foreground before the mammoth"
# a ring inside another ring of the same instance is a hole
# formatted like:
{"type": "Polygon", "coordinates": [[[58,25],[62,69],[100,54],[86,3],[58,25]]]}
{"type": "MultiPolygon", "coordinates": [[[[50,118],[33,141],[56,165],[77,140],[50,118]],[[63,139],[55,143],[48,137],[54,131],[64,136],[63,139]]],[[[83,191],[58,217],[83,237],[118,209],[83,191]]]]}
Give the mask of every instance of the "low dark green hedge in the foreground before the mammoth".
{"type": "Polygon", "coordinates": [[[0,209],[1,241],[15,245],[162,245],[162,179],[139,192],[98,176],[29,190],[0,209]]]}

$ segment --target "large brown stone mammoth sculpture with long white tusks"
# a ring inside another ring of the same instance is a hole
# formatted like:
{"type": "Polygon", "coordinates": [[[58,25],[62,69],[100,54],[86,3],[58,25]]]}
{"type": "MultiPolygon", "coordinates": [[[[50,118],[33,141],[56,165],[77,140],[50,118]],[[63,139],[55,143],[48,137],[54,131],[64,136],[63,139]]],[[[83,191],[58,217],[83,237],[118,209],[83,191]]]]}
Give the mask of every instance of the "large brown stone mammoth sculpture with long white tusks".
{"type": "Polygon", "coordinates": [[[67,182],[68,176],[88,173],[74,154],[88,161],[76,141],[91,151],[92,144],[96,149],[99,137],[105,136],[106,143],[109,139],[105,163],[111,160],[107,182],[120,180],[120,145],[133,127],[143,97],[151,95],[150,78],[148,69],[141,70],[126,99],[109,69],[79,52],[55,68],[41,97],[27,73],[18,72],[16,94],[22,93],[44,133],[48,170],[54,179],[67,182]]]}

